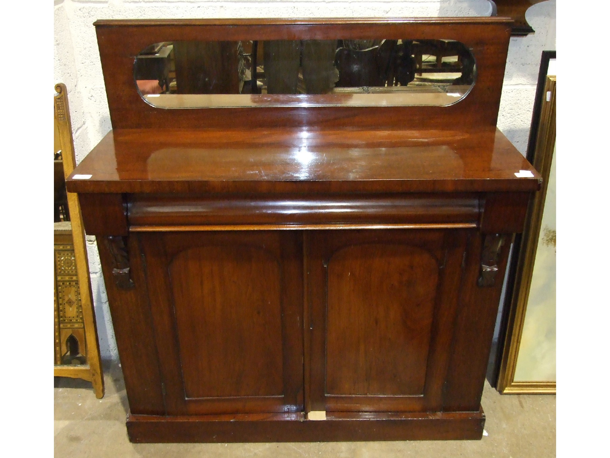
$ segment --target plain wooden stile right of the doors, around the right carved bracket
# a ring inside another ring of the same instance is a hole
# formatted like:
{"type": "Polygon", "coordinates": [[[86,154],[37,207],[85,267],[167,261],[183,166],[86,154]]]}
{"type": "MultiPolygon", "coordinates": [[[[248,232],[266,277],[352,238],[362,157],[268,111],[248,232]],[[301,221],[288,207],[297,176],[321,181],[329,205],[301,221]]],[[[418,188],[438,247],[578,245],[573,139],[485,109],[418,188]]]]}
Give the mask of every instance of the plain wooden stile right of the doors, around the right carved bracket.
{"type": "Polygon", "coordinates": [[[504,278],[511,245],[507,235],[498,256],[495,284],[478,286],[482,241],[483,236],[479,233],[474,234],[468,241],[453,352],[445,385],[443,410],[446,412],[475,412],[481,404],[493,327],[502,290],[501,279],[504,278]]]}

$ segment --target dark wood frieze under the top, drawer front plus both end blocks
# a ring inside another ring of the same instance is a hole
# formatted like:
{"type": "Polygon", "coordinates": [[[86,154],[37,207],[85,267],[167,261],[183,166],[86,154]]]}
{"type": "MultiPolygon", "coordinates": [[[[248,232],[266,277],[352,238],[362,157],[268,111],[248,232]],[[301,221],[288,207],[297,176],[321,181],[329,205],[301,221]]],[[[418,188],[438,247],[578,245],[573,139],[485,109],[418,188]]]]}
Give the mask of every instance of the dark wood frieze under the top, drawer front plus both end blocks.
{"type": "Polygon", "coordinates": [[[529,199],[526,192],[80,196],[88,208],[85,228],[98,236],[129,231],[468,227],[511,233],[522,231],[529,199]]]}

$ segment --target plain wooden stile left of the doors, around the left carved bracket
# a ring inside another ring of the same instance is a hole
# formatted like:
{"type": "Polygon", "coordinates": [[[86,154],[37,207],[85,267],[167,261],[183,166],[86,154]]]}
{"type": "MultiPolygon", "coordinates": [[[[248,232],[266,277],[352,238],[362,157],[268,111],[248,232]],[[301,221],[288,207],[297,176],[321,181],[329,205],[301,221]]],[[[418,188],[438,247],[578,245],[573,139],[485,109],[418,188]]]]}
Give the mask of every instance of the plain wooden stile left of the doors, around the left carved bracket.
{"type": "Polygon", "coordinates": [[[121,357],[129,410],[140,415],[164,415],[157,347],[142,257],[135,236],[129,237],[127,246],[134,288],[121,289],[112,275],[112,254],[106,238],[98,238],[99,258],[121,357]]]}

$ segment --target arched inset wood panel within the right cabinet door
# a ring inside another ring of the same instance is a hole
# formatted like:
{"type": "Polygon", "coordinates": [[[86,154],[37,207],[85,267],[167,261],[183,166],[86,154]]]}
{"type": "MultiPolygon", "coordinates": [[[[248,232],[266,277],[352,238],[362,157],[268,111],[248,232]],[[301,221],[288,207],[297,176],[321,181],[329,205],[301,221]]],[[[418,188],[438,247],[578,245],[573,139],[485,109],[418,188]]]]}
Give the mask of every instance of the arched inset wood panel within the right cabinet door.
{"type": "Polygon", "coordinates": [[[439,264],[407,245],[351,245],[328,261],[326,393],[423,394],[439,264]]]}

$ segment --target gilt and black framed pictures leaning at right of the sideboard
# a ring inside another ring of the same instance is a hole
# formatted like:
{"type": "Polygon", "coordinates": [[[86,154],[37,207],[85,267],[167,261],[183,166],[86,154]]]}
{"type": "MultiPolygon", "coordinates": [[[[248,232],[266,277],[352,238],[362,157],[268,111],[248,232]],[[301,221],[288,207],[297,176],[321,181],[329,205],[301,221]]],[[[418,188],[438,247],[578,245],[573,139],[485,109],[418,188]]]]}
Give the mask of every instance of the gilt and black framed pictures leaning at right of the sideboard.
{"type": "Polygon", "coordinates": [[[555,57],[542,53],[527,154],[544,182],[515,236],[487,373],[501,393],[556,393],[555,57]]]}

